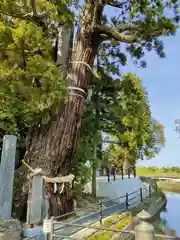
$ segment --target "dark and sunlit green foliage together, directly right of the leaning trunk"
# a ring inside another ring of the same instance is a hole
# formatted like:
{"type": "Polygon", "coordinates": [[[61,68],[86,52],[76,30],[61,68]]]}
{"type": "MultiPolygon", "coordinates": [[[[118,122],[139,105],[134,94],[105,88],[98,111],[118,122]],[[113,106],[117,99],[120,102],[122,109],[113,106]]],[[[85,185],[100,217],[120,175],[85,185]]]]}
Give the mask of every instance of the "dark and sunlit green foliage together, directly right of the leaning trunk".
{"type": "Polygon", "coordinates": [[[97,165],[111,162],[117,169],[122,167],[125,159],[134,166],[139,158],[155,156],[164,145],[163,126],[152,119],[147,92],[141,80],[131,73],[112,78],[102,68],[100,74],[102,82],[92,82],[92,97],[82,121],[74,171],[81,169],[87,160],[92,162],[97,132],[97,165]],[[98,126],[97,85],[100,85],[98,126]],[[103,151],[102,133],[110,136],[110,142],[118,144],[110,143],[103,151]]]}

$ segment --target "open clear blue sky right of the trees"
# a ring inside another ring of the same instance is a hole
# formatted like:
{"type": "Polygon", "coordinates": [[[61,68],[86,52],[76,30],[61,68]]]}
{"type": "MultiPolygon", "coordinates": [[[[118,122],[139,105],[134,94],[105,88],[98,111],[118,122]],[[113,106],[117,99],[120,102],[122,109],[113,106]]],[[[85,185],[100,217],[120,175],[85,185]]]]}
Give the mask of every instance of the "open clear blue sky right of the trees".
{"type": "Polygon", "coordinates": [[[179,165],[180,134],[175,132],[175,120],[180,118],[180,31],[176,36],[164,38],[166,58],[156,53],[145,57],[147,67],[136,68],[131,61],[123,68],[140,77],[148,90],[153,117],[165,127],[165,148],[154,158],[141,165],[179,165]]]}

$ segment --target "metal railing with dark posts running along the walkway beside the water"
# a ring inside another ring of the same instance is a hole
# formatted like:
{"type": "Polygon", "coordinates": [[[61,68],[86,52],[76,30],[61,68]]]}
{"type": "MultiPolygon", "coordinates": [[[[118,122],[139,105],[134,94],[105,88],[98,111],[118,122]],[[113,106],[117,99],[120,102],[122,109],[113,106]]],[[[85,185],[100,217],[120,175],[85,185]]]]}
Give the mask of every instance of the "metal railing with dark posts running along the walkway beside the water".
{"type": "MultiPolygon", "coordinates": [[[[157,186],[155,184],[149,185],[145,188],[140,188],[134,192],[126,193],[123,196],[111,199],[111,200],[100,200],[99,203],[91,204],[84,208],[77,208],[75,211],[63,214],[57,217],[53,217],[52,219],[52,229],[51,229],[51,240],[57,239],[57,238],[63,238],[66,234],[63,234],[63,232],[68,232],[68,237],[70,234],[74,234],[75,232],[80,231],[83,228],[93,228],[93,229],[101,229],[103,230],[103,219],[112,215],[115,212],[122,212],[125,210],[129,210],[130,208],[133,208],[138,203],[142,203],[144,200],[150,198],[154,192],[157,191],[157,186]],[[110,205],[110,206],[109,206],[110,205]],[[87,210],[88,208],[97,207],[96,210],[88,215],[82,216],[79,219],[76,219],[72,221],[71,223],[68,223],[67,221],[58,221],[60,219],[63,219],[65,217],[77,214],[79,211],[87,210]],[[88,221],[88,219],[91,219],[88,221]],[[94,223],[97,223],[99,221],[100,228],[92,226],[94,223]],[[90,224],[86,224],[87,222],[90,222],[90,224]],[[59,226],[58,226],[59,225],[59,226]],[[57,227],[58,226],[58,227],[57,227]],[[66,231],[65,231],[66,229],[66,231]],[[59,233],[58,233],[59,231],[59,233]],[[61,234],[60,234],[61,232],[61,234]],[[60,235],[59,235],[60,234],[60,235]]],[[[106,229],[107,230],[107,229],[106,229]]],[[[111,229],[110,231],[114,232],[126,232],[121,230],[114,230],[111,229]]],[[[129,233],[129,231],[128,231],[129,233]]]]}

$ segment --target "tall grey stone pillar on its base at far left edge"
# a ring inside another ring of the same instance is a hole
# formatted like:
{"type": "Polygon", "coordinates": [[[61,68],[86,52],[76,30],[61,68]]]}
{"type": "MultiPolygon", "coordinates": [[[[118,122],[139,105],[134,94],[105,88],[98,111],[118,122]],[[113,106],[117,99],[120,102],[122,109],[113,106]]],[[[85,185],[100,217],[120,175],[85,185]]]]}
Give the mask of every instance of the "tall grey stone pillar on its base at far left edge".
{"type": "Polygon", "coordinates": [[[17,137],[5,135],[0,165],[0,240],[20,240],[21,224],[12,219],[12,197],[17,137]]]}

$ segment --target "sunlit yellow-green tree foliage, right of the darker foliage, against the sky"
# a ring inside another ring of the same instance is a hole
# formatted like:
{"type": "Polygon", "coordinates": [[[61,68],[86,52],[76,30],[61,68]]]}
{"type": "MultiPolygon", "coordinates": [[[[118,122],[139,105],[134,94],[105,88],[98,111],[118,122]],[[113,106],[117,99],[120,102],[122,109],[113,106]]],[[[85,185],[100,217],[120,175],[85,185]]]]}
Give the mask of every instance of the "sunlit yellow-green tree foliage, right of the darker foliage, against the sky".
{"type": "Polygon", "coordinates": [[[152,119],[146,90],[136,76],[121,77],[116,99],[113,111],[119,119],[111,138],[119,146],[111,143],[107,149],[109,160],[116,168],[124,161],[134,166],[138,159],[152,158],[160,151],[165,142],[163,126],[152,119]]]}

